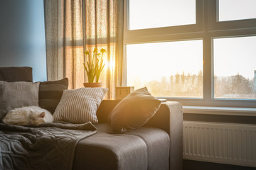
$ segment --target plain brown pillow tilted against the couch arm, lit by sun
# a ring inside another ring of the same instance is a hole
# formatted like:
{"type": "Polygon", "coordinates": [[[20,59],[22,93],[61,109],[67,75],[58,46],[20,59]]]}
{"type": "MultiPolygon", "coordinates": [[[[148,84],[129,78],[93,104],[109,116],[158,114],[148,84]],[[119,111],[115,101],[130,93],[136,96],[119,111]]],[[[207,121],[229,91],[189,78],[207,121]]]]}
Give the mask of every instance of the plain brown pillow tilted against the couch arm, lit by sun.
{"type": "Polygon", "coordinates": [[[114,132],[134,130],[144,125],[159,109],[161,101],[151,96],[146,87],[132,91],[109,115],[114,132]]]}

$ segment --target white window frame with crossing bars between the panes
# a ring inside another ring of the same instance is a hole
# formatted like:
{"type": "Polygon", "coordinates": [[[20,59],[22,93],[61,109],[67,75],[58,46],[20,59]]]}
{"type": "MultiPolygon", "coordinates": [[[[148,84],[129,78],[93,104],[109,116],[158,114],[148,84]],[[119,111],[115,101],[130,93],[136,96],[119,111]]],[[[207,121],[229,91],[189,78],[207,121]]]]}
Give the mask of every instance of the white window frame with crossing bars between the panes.
{"type": "Polygon", "coordinates": [[[256,108],[254,99],[213,98],[213,39],[256,35],[256,19],[218,22],[218,0],[196,0],[196,24],[129,30],[129,0],[124,0],[124,81],[126,45],[181,40],[203,40],[203,98],[166,97],[185,106],[256,108]]]}

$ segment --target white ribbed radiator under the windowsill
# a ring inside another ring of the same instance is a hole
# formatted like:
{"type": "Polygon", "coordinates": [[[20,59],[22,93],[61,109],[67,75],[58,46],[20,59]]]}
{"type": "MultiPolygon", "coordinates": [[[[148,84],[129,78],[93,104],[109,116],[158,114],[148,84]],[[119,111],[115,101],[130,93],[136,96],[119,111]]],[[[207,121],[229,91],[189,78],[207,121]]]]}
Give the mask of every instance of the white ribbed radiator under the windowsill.
{"type": "Polygon", "coordinates": [[[183,159],[256,167],[256,125],[183,121],[183,159]]]}

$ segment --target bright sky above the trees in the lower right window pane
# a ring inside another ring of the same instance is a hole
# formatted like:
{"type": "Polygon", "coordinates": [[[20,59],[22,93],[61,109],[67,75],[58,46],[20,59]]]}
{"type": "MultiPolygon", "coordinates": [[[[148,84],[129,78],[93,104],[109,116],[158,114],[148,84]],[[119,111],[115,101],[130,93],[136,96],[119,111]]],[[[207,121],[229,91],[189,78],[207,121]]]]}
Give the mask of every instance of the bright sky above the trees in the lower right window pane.
{"type": "Polygon", "coordinates": [[[240,74],[253,79],[256,70],[256,36],[214,39],[213,63],[215,76],[240,74]]]}

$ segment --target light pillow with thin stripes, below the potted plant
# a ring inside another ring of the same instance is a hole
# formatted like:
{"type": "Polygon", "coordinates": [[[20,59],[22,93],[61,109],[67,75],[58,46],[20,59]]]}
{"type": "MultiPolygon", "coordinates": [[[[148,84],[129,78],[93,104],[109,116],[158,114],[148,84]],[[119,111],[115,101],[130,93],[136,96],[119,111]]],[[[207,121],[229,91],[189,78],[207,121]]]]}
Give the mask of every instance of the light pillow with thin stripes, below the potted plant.
{"type": "Polygon", "coordinates": [[[97,123],[97,108],[99,108],[108,89],[81,88],[63,91],[53,118],[55,122],[97,123]]]}

